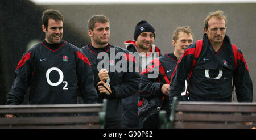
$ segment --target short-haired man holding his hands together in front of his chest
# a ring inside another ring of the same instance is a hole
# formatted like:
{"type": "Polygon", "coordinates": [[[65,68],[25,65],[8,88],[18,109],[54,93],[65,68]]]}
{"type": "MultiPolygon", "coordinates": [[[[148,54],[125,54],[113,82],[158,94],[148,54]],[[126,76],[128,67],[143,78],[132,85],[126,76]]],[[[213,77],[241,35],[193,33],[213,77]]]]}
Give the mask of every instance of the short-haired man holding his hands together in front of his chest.
{"type": "Polygon", "coordinates": [[[108,43],[110,22],[104,15],[92,16],[88,28],[92,43],[81,49],[92,66],[99,103],[108,99],[105,128],[124,128],[121,99],[135,94],[139,88],[135,58],[129,51],[108,43]]]}

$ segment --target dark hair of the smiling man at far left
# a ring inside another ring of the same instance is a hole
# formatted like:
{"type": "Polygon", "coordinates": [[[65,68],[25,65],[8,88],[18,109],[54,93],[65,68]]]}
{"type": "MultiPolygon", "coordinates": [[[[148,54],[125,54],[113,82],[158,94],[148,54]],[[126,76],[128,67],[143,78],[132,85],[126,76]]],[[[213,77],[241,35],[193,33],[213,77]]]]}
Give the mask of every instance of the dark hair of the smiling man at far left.
{"type": "Polygon", "coordinates": [[[54,10],[54,9],[47,9],[46,11],[43,12],[41,20],[42,20],[42,24],[44,24],[46,29],[48,27],[49,19],[53,19],[55,21],[61,20],[62,22],[64,22],[64,18],[60,14],[60,12],[58,10],[54,10]]]}

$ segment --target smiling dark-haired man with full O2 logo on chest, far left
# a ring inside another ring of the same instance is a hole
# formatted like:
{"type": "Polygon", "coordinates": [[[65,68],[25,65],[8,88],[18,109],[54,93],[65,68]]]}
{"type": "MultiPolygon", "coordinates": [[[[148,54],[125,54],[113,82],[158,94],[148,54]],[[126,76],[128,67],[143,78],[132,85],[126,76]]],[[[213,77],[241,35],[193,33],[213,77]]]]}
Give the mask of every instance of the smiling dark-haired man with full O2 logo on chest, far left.
{"type": "Polygon", "coordinates": [[[62,40],[63,16],[57,10],[46,10],[42,23],[46,38],[27,50],[19,61],[7,105],[21,104],[28,87],[30,104],[76,104],[77,86],[84,103],[97,103],[88,58],[81,49],[62,40]]]}

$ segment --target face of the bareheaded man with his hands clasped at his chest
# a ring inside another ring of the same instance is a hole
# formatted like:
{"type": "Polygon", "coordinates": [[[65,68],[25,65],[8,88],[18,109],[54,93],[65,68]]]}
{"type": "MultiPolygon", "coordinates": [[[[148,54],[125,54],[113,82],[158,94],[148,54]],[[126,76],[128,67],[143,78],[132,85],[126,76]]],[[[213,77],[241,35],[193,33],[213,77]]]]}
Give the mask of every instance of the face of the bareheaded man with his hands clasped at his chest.
{"type": "Polygon", "coordinates": [[[96,48],[102,48],[108,45],[110,39],[110,25],[108,22],[96,22],[93,31],[89,29],[92,45],[96,48]]]}

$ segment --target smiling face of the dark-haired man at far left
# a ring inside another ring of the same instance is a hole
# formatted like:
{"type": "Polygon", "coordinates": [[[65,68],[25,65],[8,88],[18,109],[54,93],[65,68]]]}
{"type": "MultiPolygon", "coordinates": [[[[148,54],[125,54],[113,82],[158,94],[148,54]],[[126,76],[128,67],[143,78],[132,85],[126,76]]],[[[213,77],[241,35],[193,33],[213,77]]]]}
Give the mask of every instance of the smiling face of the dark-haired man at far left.
{"type": "Polygon", "coordinates": [[[46,42],[49,44],[58,44],[63,38],[63,22],[61,20],[49,19],[48,27],[42,25],[43,31],[46,33],[46,42]]]}

